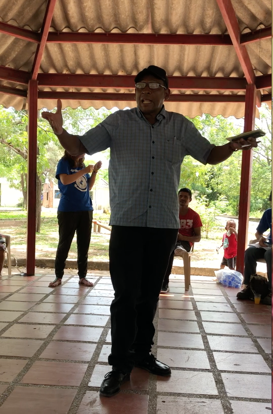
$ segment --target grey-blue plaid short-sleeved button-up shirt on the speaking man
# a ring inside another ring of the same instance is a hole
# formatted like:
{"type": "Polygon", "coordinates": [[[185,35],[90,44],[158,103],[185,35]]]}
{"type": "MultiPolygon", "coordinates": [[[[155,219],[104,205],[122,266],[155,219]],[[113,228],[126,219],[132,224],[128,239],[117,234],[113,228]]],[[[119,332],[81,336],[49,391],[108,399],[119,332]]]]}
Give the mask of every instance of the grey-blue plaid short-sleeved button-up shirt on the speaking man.
{"type": "Polygon", "coordinates": [[[214,147],[183,115],[163,107],[151,125],[119,110],[79,137],[90,155],[110,147],[110,225],[179,228],[177,190],[185,155],[202,164],[214,147]]]}

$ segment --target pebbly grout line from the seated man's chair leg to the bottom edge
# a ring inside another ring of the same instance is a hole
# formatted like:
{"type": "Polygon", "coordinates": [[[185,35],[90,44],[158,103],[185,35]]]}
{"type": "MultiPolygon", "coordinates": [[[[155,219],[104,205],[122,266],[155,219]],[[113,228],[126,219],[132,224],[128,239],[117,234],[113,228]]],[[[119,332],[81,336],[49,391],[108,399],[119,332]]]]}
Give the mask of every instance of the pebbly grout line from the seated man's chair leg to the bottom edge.
{"type": "MultiPolygon", "coordinates": [[[[189,291],[192,292],[192,287],[191,286],[190,286],[189,291]]],[[[201,319],[200,311],[197,307],[197,303],[196,303],[195,299],[191,298],[191,301],[192,301],[192,304],[193,304],[193,308],[196,311],[196,315],[198,317],[197,319],[198,319],[199,331],[201,333],[201,337],[202,337],[202,340],[203,340],[204,349],[207,353],[207,358],[208,358],[208,361],[209,361],[209,364],[210,364],[211,373],[212,373],[212,376],[213,376],[213,379],[214,379],[214,382],[215,382],[215,385],[216,385],[216,389],[217,389],[217,392],[218,392],[220,400],[221,400],[221,404],[222,404],[222,407],[223,407],[223,412],[224,412],[224,414],[233,414],[233,410],[231,408],[231,403],[228,399],[228,395],[227,395],[227,392],[226,392],[226,389],[225,389],[225,386],[224,386],[224,383],[223,383],[223,378],[222,378],[221,372],[218,370],[218,367],[217,367],[216,361],[214,359],[214,355],[213,355],[213,352],[211,350],[211,347],[210,347],[205,329],[203,327],[203,321],[201,319]]]]}

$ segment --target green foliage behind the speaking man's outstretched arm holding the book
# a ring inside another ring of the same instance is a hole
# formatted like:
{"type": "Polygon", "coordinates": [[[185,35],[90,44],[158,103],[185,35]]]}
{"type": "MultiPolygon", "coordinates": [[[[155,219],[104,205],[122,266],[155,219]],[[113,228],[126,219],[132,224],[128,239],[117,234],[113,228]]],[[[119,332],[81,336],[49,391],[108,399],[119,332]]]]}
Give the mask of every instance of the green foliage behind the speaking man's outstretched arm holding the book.
{"type": "MultiPolygon", "coordinates": [[[[215,145],[223,145],[226,143],[226,137],[243,131],[243,120],[225,119],[221,115],[213,118],[209,114],[204,114],[191,121],[201,135],[215,145]]],[[[260,119],[256,119],[255,128],[261,128],[266,132],[266,136],[259,138],[261,143],[253,150],[250,212],[256,210],[262,212],[270,207],[268,196],[272,186],[271,111],[266,104],[260,108],[260,119]]],[[[203,166],[192,158],[185,157],[185,164],[183,163],[181,168],[180,185],[190,187],[199,196],[205,196],[208,206],[211,202],[218,202],[225,197],[225,204],[220,211],[238,215],[241,160],[241,151],[232,154],[230,158],[216,166],[203,166]],[[224,209],[226,210],[223,211],[224,209]]]]}

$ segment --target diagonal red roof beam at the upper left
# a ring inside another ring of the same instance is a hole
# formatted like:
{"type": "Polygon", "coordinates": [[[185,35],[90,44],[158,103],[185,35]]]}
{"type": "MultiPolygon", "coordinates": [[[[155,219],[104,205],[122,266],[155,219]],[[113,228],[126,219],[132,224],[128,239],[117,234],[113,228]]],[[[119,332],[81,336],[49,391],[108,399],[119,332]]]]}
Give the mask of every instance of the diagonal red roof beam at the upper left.
{"type": "Polygon", "coordinates": [[[37,46],[36,54],[34,56],[32,71],[31,71],[31,79],[33,80],[37,79],[39,67],[41,64],[41,60],[43,57],[44,49],[45,49],[48,34],[49,34],[50,23],[52,20],[56,1],[57,0],[48,0],[48,3],[47,3],[46,13],[45,13],[43,25],[41,28],[41,41],[39,45],[37,46]]]}

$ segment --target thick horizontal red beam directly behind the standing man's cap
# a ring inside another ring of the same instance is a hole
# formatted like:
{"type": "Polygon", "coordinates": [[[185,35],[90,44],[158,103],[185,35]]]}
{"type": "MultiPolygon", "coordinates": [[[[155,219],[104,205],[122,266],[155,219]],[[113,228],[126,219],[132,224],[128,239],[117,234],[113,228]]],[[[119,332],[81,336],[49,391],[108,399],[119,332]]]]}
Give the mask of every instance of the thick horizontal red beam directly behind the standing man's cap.
{"type": "MultiPolygon", "coordinates": [[[[82,75],[39,73],[39,86],[134,88],[135,75],[82,75]]],[[[170,89],[245,90],[245,78],[169,76],[170,89]]]]}

